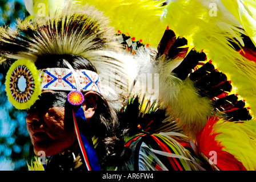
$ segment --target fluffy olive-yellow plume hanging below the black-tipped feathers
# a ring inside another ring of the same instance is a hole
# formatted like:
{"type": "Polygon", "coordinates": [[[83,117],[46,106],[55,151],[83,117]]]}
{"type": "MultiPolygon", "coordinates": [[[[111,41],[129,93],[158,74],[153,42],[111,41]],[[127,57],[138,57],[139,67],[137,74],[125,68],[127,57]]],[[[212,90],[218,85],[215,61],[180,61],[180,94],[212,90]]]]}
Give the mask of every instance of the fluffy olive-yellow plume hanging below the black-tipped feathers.
{"type": "MultiPolygon", "coordinates": [[[[170,74],[169,74],[170,75],[170,74]]],[[[193,82],[187,78],[181,81],[179,78],[170,75],[163,76],[160,82],[160,99],[167,106],[167,111],[174,118],[184,132],[191,138],[195,137],[206,125],[207,117],[214,113],[211,101],[207,97],[201,97],[193,82]],[[168,94],[168,92],[173,94],[168,94]]]]}

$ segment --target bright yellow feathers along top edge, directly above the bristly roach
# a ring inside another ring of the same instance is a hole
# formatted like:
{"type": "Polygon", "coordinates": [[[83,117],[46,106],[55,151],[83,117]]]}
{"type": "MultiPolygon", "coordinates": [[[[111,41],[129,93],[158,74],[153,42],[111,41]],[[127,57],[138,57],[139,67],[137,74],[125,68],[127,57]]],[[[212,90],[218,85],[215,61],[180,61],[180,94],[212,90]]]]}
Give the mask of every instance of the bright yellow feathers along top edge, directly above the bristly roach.
{"type": "MultiPolygon", "coordinates": [[[[47,0],[34,0],[34,12],[38,11],[38,3],[42,3],[42,1],[48,6],[47,0]]],[[[121,30],[123,34],[129,33],[131,37],[135,37],[135,41],[142,40],[144,44],[157,47],[166,29],[160,20],[163,10],[161,5],[164,1],[69,0],[67,2],[70,1],[79,7],[86,4],[95,6],[110,19],[110,26],[114,27],[116,31],[121,30]]],[[[49,7],[54,12],[64,2],[63,0],[49,1],[49,7]]]]}

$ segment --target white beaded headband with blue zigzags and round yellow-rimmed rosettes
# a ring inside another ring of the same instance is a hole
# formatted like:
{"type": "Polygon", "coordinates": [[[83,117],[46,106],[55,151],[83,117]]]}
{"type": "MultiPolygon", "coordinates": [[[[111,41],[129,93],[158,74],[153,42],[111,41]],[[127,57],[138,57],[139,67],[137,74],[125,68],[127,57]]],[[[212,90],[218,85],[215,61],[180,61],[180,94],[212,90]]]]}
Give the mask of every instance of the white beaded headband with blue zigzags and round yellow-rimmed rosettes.
{"type": "MultiPolygon", "coordinates": [[[[64,60],[65,61],[65,60],[64,60]]],[[[21,59],[11,65],[6,75],[6,92],[17,109],[29,109],[44,90],[71,91],[67,100],[72,105],[83,102],[81,92],[93,90],[101,93],[101,80],[97,73],[86,69],[46,68],[37,70],[30,60],[21,59]]]]}

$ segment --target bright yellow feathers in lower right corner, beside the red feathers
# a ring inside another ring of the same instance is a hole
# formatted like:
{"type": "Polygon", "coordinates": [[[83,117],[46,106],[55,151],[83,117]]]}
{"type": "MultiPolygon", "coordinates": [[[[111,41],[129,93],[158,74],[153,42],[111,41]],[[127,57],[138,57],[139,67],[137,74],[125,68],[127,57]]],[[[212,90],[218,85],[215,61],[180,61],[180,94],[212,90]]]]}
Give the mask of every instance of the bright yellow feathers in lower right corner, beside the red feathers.
{"type": "MultiPolygon", "coordinates": [[[[234,155],[247,170],[256,170],[256,122],[242,123],[220,120],[214,126],[216,140],[221,142],[223,150],[234,155]]],[[[218,156],[217,156],[218,157],[218,156]]],[[[217,158],[218,162],[218,158],[217,158]]]]}

